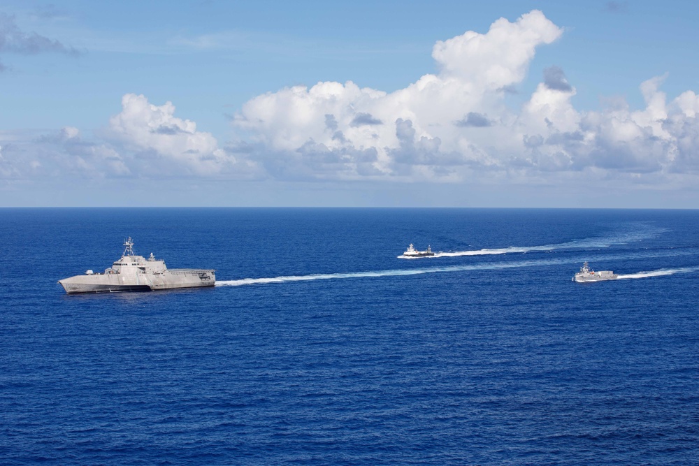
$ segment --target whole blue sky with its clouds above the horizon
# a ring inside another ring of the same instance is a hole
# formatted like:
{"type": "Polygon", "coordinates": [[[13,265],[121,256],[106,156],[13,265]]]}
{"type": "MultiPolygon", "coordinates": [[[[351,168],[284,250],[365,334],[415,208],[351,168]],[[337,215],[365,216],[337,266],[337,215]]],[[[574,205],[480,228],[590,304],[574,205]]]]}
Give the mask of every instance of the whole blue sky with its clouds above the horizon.
{"type": "Polygon", "coordinates": [[[694,1],[0,3],[0,207],[699,208],[694,1]]]}

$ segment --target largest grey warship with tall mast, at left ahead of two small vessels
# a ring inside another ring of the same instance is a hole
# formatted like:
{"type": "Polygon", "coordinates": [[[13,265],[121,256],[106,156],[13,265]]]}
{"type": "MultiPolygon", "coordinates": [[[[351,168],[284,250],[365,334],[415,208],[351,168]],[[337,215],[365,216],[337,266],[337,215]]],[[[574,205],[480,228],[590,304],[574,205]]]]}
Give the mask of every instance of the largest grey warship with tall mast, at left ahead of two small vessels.
{"type": "Polygon", "coordinates": [[[84,275],[59,280],[68,294],[108,293],[115,291],[150,291],[195,286],[214,286],[215,270],[174,268],[168,270],[165,261],[153,253],[145,259],[134,254],[134,241],[124,241],[124,254],[103,273],[87,270],[84,275]]]}

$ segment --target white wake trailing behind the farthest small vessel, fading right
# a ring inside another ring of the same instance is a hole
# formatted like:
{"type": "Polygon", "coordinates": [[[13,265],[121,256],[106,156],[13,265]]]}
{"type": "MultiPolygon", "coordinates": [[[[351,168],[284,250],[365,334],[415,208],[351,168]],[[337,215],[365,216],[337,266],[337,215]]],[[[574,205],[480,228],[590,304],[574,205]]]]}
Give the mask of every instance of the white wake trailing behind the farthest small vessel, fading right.
{"type": "Polygon", "coordinates": [[[650,228],[649,231],[644,232],[629,232],[626,234],[614,236],[607,236],[602,238],[585,238],[584,240],[573,240],[568,242],[561,242],[556,245],[543,245],[543,246],[510,246],[510,247],[500,247],[494,249],[473,249],[470,251],[454,251],[454,252],[436,252],[433,256],[403,256],[401,254],[398,259],[438,259],[440,257],[460,257],[460,256],[489,256],[493,254],[512,254],[512,253],[524,253],[524,252],[540,252],[540,251],[552,251],[554,249],[582,249],[591,247],[610,247],[612,245],[624,245],[628,242],[647,240],[650,238],[656,238],[667,231],[665,228],[650,228]]]}

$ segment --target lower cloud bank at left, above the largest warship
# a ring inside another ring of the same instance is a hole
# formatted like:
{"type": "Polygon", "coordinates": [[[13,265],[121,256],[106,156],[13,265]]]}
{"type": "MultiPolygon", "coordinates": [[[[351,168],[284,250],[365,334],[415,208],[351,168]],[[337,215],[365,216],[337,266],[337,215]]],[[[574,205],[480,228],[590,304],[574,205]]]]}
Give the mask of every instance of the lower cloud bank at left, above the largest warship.
{"type": "Polygon", "coordinates": [[[126,94],[122,111],[82,138],[66,126],[34,138],[0,135],[0,175],[11,180],[73,175],[80,178],[259,177],[255,164],[239,161],[196,124],[175,117],[175,106],[153,105],[145,96],[126,94]],[[9,139],[9,140],[8,140],[9,139]]]}

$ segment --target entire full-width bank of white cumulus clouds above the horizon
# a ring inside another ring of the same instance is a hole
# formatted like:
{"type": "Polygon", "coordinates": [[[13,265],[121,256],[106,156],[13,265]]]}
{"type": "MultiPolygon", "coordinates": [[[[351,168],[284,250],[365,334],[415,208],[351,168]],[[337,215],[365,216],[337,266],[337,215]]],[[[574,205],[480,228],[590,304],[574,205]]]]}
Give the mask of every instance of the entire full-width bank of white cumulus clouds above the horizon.
{"type": "MultiPolygon", "coordinates": [[[[562,34],[533,10],[514,22],[500,18],[485,34],[438,41],[438,73],[395,92],[352,81],[268,92],[233,116],[233,140],[224,144],[176,117],[172,103],[126,94],[121,112],[92,138],[71,127],[24,140],[0,134],[0,176],[696,182],[699,97],[686,91],[668,101],[664,76],[640,85],[645,108],[618,100],[582,112],[572,105],[575,83],[552,65],[524,104],[507,105],[536,50],[562,34]]],[[[17,45],[21,34],[15,45],[0,37],[0,50],[29,50],[17,45]]]]}

